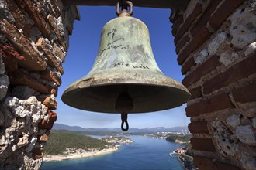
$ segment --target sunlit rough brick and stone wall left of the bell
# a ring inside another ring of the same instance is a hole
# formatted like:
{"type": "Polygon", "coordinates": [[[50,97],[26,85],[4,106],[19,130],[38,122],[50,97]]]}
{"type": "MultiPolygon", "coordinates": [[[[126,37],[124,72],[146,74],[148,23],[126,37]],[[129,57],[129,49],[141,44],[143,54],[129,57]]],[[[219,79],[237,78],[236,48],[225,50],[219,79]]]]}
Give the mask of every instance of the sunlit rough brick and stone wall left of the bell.
{"type": "Polygon", "coordinates": [[[39,169],[76,6],[0,0],[0,169],[39,169]]]}

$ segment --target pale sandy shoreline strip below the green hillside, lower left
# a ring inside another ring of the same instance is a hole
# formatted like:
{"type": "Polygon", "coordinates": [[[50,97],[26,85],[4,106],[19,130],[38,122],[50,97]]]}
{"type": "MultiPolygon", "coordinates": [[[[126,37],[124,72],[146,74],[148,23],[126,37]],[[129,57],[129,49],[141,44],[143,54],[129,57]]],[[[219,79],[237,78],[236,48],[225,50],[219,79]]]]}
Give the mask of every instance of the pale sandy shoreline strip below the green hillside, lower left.
{"type": "Polygon", "coordinates": [[[106,155],[110,154],[114,151],[117,151],[119,147],[115,148],[107,148],[107,149],[102,149],[101,151],[97,152],[88,152],[88,153],[83,153],[83,154],[71,154],[71,155],[47,155],[43,157],[43,162],[51,162],[51,161],[63,161],[63,160],[68,160],[68,159],[76,159],[76,158],[88,158],[88,157],[93,157],[93,156],[100,156],[100,155],[106,155]]]}

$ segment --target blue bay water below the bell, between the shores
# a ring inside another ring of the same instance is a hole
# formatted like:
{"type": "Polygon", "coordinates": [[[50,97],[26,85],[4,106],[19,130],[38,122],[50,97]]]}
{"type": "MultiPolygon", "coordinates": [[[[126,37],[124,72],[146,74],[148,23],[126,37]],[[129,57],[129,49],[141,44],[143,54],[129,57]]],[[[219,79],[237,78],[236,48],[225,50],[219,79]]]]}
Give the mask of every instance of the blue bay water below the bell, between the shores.
{"type": "Polygon", "coordinates": [[[134,142],[122,145],[118,151],[108,155],[92,158],[80,158],[59,162],[43,162],[43,170],[182,170],[182,165],[174,155],[169,153],[176,148],[182,148],[165,139],[147,138],[144,136],[128,136],[134,142]]]}

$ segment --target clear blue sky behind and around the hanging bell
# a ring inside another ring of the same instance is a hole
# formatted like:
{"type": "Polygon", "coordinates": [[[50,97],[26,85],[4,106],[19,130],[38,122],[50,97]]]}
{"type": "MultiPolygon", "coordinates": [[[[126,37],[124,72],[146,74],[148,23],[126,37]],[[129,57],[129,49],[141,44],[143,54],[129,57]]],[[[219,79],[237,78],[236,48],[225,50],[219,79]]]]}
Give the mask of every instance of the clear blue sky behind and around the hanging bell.
{"type": "MultiPolygon", "coordinates": [[[[119,114],[93,113],[69,107],[61,101],[64,90],[75,80],[92,69],[99,49],[102,27],[116,18],[116,7],[79,6],[81,21],[75,21],[73,34],[70,36],[70,47],[63,63],[64,75],[57,96],[57,123],[76,125],[84,128],[119,128],[119,114]]],[[[150,32],[150,41],[154,57],[161,71],[171,78],[182,81],[181,66],[178,66],[177,55],[171,35],[171,10],[159,8],[134,8],[133,17],[143,21],[150,32]]],[[[171,110],[147,114],[128,114],[130,128],[175,127],[186,126],[189,118],[185,116],[185,104],[171,110]]]]}

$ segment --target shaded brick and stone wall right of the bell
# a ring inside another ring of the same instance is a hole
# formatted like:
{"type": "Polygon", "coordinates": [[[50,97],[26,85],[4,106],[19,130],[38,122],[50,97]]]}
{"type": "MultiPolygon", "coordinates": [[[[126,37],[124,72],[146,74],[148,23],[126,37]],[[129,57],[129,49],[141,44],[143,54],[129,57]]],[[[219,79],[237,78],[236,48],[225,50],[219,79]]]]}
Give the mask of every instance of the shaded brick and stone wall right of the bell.
{"type": "Polygon", "coordinates": [[[255,15],[255,0],[195,0],[171,12],[199,169],[256,167],[255,15]]]}

